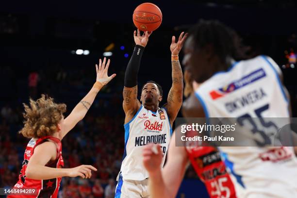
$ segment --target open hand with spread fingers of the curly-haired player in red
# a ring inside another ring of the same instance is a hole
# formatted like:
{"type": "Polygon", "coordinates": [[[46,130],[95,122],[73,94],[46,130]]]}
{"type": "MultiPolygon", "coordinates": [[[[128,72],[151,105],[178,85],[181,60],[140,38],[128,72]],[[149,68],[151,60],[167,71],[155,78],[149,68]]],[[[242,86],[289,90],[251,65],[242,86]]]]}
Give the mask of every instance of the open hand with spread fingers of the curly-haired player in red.
{"type": "Polygon", "coordinates": [[[101,59],[99,59],[99,66],[96,64],[96,72],[97,72],[97,78],[96,81],[101,82],[103,85],[110,82],[113,78],[115,78],[116,74],[113,74],[111,76],[108,76],[108,67],[110,63],[110,59],[108,59],[107,64],[105,66],[106,58],[104,57],[103,63],[101,62],[101,59]]]}

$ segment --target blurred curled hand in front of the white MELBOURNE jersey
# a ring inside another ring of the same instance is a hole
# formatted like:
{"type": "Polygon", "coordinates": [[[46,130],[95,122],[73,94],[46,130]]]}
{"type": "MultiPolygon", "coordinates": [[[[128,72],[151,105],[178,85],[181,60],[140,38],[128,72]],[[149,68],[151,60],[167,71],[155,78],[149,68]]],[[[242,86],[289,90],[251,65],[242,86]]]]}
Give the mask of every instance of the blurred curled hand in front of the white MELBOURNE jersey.
{"type": "Polygon", "coordinates": [[[155,145],[155,144],[146,145],[143,149],[142,155],[143,155],[143,164],[150,174],[153,174],[154,172],[161,169],[163,152],[160,148],[160,145],[155,145]],[[157,154],[154,153],[153,147],[156,147],[155,149],[158,151],[157,154]]]}

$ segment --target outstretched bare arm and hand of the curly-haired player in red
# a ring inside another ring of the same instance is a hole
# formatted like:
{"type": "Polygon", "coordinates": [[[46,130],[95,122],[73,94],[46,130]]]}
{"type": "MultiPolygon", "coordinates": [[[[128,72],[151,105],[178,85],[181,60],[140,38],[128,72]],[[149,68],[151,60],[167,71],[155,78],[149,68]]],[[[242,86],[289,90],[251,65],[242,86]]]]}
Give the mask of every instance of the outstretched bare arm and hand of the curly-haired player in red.
{"type": "Polygon", "coordinates": [[[94,86],[89,91],[89,93],[87,93],[87,95],[74,107],[70,115],[65,118],[62,137],[64,137],[67,132],[69,132],[80,120],[82,120],[91,107],[100,89],[115,77],[115,74],[111,76],[107,75],[110,59],[108,59],[106,66],[105,62],[106,58],[103,59],[103,63],[101,63],[101,59],[99,59],[99,66],[96,65],[97,78],[94,86]]]}

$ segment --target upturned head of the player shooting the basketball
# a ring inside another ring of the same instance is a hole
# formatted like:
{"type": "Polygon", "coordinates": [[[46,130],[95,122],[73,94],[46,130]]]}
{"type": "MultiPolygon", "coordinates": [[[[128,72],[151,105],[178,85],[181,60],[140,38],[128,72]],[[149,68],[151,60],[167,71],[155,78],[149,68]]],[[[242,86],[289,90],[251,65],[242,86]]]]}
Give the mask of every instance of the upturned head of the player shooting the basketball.
{"type": "Polygon", "coordinates": [[[160,96],[160,91],[155,83],[149,82],[144,85],[140,98],[143,104],[158,104],[161,100],[162,96],[160,96]]]}

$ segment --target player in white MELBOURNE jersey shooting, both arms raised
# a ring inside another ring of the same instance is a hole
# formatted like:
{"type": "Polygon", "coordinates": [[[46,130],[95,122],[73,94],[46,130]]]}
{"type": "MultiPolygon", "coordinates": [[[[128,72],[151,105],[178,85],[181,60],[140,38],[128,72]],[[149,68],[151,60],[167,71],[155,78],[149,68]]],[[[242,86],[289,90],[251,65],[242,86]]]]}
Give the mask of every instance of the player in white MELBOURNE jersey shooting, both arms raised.
{"type": "Polygon", "coordinates": [[[159,107],[163,99],[162,87],[148,81],[141,89],[140,101],[137,99],[137,74],[144,49],[150,33],[140,35],[134,31],[135,49],[128,63],[124,91],[123,109],[125,112],[125,152],[116,186],[116,198],[146,198],[148,193],[148,172],[142,164],[142,149],[149,143],[160,144],[163,159],[172,133],[174,122],[182,103],[183,78],[179,62],[179,52],[185,41],[186,34],[181,33],[178,42],[172,37],[170,45],[172,65],[172,87],[167,103],[159,107]]]}

